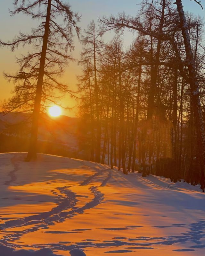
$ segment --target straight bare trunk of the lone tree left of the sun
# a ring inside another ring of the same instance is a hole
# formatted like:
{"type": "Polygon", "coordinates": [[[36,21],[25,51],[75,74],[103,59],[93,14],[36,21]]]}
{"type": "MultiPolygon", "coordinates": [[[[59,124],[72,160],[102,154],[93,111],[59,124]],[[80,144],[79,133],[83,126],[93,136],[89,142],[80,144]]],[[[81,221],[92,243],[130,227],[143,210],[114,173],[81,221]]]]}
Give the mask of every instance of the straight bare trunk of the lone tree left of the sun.
{"type": "Polygon", "coordinates": [[[42,98],[42,88],[43,88],[43,78],[44,78],[44,68],[45,68],[45,57],[46,57],[49,27],[50,27],[50,16],[51,16],[51,0],[48,0],[46,20],[45,20],[45,31],[44,31],[43,45],[42,45],[42,51],[41,51],[39,72],[38,72],[37,88],[36,88],[36,97],[35,97],[33,116],[32,116],[30,145],[29,145],[29,151],[26,157],[26,161],[36,160],[37,158],[38,122],[39,122],[40,109],[41,109],[41,98],[42,98]]]}

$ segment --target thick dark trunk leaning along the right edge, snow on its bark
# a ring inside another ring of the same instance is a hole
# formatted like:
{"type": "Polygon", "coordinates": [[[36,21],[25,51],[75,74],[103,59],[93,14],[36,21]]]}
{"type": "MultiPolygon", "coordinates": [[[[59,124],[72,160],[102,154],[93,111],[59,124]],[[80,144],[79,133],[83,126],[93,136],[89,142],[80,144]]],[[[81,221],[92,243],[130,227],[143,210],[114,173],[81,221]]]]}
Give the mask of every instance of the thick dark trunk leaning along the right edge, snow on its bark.
{"type": "Polygon", "coordinates": [[[199,158],[201,161],[201,189],[205,191],[205,132],[204,124],[201,113],[201,102],[199,97],[199,85],[197,81],[196,66],[194,63],[192,48],[190,44],[190,37],[188,33],[187,22],[184,15],[184,10],[181,0],[176,0],[177,10],[179,13],[179,18],[181,22],[182,35],[184,38],[184,46],[186,51],[186,59],[188,60],[188,70],[189,70],[189,80],[190,88],[193,98],[193,111],[194,111],[194,120],[195,127],[197,131],[197,139],[199,146],[199,158]]]}

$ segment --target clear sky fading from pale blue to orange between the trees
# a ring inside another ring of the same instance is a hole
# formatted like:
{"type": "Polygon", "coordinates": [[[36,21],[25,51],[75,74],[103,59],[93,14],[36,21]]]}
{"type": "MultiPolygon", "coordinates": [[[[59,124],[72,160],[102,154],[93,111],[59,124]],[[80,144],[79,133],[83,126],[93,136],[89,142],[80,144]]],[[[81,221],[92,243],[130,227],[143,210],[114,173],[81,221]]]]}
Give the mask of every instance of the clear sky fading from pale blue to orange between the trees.
{"type": "MultiPolygon", "coordinates": [[[[141,0],[64,0],[63,2],[69,2],[71,9],[74,12],[78,12],[81,15],[81,21],[79,26],[81,31],[86,29],[87,25],[93,19],[97,22],[99,17],[110,16],[111,14],[118,14],[125,12],[126,14],[135,15],[139,9],[141,0]]],[[[175,0],[173,0],[173,3],[175,0]]],[[[196,15],[204,16],[201,7],[194,3],[194,1],[183,0],[184,10],[193,12],[196,15]]],[[[31,20],[30,17],[26,15],[15,15],[10,16],[8,9],[13,9],[13,0],[0,0],[0,39],[3,41],[11,40],[19,31],[28,32],[30,28],[35,27],[35,22],[31,20]]],[[[201,0],[201,4],[205,7],[205,0],[201,0]]],[[[110,40],[113,34],[109,33],[106,35],[105,40],[110,40]]],[[[126,46],[132,42],[135,38],[135,34],[131,32],[125,32],[124,43],[126,46]]],[[[74,39],[75,51],[73,52],[73,57],[75,59],[79,58],[81,45],[75,37],[74,39]]],[[[15,63],[15,57],[19,56],[21,53],[25,52],[25,49],[19,47],[15,52],[11,52],[9,49],[0,48],[0,103],[11,97],[11,91],[13,89],[13,83],[8,83],[3,76],[3,72],[15,73],[18,70],[18,65],[15,63]]],[[[65,69],[65,73],[62,80],[69,85],[70,89],[76,90],[78,83],[77,75],[80,75],[80,67],[77,62],[71,62],[65,69]]],[[[62,105],[68,106],[71,110],[63,110],[63,114],[75,117],[78,116],[77,103],[76,101],[68,95],[61,100],[62,105]]]]}

